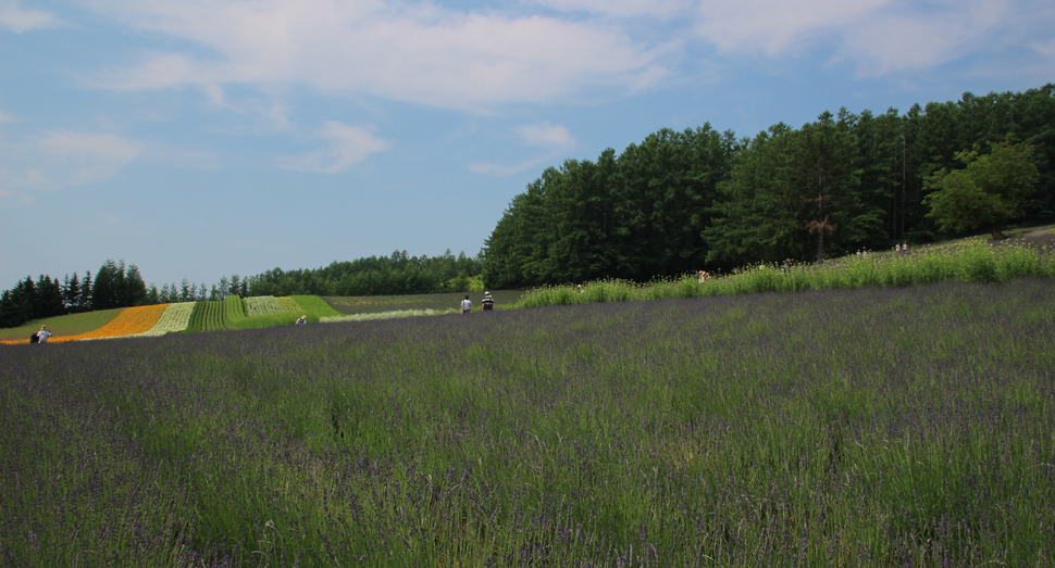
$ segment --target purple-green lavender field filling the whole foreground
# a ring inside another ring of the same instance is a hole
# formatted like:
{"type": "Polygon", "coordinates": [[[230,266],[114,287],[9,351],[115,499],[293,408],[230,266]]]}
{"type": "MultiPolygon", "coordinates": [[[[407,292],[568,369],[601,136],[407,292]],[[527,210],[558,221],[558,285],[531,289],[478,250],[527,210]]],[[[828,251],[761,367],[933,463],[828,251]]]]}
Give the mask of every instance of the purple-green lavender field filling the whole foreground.
{"type": "Polygon", "coordinates": [[[0,349],[3,566],[1052,566],[1055,280],[0,349]]]}

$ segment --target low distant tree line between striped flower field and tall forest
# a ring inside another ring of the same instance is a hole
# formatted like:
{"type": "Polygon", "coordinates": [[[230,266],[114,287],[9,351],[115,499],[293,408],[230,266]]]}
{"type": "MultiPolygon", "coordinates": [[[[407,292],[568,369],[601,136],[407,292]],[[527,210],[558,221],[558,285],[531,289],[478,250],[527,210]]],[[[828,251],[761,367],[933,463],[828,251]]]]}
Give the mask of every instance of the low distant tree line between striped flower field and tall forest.
{"type": "MultiPolygon", "coordinates": [[[[231,283],[241,295],[394,295],[463,292],[481,288],[480,258],[449,250],[442,256],[410,256],[407,251],[390,256],[368,256],[334,262],[315,269],[274,268],[231,283]]],[[[232,292],[234,293],[234,292],[232,292]]]]}

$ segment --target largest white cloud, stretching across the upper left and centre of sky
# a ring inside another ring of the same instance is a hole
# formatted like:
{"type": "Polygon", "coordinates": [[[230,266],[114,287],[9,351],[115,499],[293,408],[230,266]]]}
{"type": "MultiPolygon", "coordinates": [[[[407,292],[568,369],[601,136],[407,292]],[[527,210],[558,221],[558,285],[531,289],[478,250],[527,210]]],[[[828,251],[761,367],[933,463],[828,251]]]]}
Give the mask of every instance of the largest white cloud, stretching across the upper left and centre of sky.
{"type": "Polygon", "coordinates": [[[477,109],[549,101],[596,87],[655,84],[659,48],[605,25],[377,0],[99,0],[128,25],[208,48],[214,56],[145,54],[99,85],[302,83],[328,91],[477,109]]]}

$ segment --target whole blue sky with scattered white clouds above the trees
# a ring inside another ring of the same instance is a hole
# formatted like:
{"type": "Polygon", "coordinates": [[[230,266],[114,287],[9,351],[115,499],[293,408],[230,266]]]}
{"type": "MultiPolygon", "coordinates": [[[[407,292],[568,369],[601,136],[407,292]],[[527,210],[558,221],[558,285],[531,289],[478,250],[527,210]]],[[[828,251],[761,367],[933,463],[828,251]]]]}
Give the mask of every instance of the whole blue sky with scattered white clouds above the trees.
{"type": "Polygon", "coordinates": [[[475,255],[547,166],[1055,80],[1050,0],[0,0],[0,289],[475,255]]]}

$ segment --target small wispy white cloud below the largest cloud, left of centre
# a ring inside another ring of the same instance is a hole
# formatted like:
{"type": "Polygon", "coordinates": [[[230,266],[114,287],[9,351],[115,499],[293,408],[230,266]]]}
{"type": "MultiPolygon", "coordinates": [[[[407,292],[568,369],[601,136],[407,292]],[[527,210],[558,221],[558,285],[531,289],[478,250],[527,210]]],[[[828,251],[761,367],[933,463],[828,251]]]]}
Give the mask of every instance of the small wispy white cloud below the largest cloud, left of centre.
{"type": "Polygon", "coordinates": [[[388,148],[388,142],[375,137],[370,129],[336,121],[325,123],[315,137],[325,142],[326,148],[305,155],[283,156],[278,165],[300,172],[336,174],[388,148]]]}

